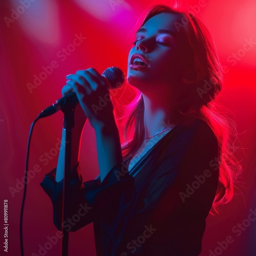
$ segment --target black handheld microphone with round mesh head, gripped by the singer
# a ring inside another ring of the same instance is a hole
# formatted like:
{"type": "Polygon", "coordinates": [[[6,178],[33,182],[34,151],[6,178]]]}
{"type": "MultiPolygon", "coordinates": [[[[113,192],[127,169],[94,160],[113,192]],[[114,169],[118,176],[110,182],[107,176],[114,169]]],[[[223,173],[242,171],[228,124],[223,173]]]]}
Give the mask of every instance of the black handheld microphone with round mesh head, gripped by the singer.
{"type": "MultiPolygon", "coordinates": [[[[117,67],[106,69],[101,76],[105,77],[106,81],[108,82],[108,89],[119,88],[124,82],[124,74],[122,70],[117,67]]],[[[62,98],[56,100],[56,102],[47,109],[43,110],[37,118],[50,116],[59,110],[68,108],[69,106],[74,107],[77,103],[78,99],[75,92],[69,92],[62,98]]]]}

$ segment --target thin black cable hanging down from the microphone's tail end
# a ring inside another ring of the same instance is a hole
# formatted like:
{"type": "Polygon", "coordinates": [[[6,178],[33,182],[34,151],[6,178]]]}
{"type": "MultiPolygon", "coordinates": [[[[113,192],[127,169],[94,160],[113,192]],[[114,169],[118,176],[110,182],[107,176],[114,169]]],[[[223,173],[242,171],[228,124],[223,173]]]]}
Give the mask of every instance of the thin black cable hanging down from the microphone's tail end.
{"type": "Polygon", "coordinates": [[[28,160],[29,160],[29,147],[30,147],[30,140],[31,140],[31,135],[32,131],[34,128],[34,125],[36,121],[40,117],[38,116],[31,124],[30,126],[30,131],[29,131],[29,138],[28,138],[28,146],[27,146],[27,155],[26,155],[26,166],[25,166],[25,184],[24,184],[24,193],[23,193],[23,200],[22,200],[22,209],[20,211],[20,222],[19,222],[19,240],[20,240],[20,252],[22,253],[22,256],[24,256],[24,251],[23,251],[23,234],[22,234],[22,224],[23,224],[23,210],[24,210],[24,205],[25,205],[25,198],[26,198],[26,190],[27,190],[27,173],[28,173],[28,160]]]}

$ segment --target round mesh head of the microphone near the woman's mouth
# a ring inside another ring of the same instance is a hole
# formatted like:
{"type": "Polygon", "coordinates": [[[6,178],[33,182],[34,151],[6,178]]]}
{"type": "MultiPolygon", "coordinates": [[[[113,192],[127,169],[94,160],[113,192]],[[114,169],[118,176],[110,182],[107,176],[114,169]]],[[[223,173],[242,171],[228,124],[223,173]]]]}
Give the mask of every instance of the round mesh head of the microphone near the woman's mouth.
{"type": "Polygon", "coordinates": [[[110,84],[110,89],[119,88],[124,82],[124,74],[122,70],[117,67],[111,67],[106,69],[102,73],[102,76],[108,79],[110,84]]]}

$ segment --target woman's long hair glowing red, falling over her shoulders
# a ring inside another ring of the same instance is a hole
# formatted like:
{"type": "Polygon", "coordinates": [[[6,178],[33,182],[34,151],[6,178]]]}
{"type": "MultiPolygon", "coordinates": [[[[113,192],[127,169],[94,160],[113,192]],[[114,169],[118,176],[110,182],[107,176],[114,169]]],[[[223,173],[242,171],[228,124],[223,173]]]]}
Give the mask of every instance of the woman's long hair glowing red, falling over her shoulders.
{"type": "MultiPolygon", "coordinates": [[[[217,95],[223,81],[222,66],[214,41],[200,19],[189,12],[180,11],[165,5],[153,6],[147,11],[140,27],[151,17],[163,13],[173,13],[180,17],[175,24],[182,30],[188,44],[186,65],[194,70],[197,82],[191,85],[188,95],[177,103],[176,118],[197,116],[208,123],[214,131],[220,146],[220,174],[216,197],[210,213],[218,212],[218,206],[229,202],[234,194],[233,187],[241,172],[241,165],[234,156],[233,143],[236,140],[236,124],[226,118],[227,110],[221,105],[217,95]],[[203,74],[203,76],[202,76],[203,74]]],[[[122,124],[119,125],[123,160],[131,159],[139,150],[144,138],[144,101],[140,91],[131,104],[126,106],[122,124]]]]}

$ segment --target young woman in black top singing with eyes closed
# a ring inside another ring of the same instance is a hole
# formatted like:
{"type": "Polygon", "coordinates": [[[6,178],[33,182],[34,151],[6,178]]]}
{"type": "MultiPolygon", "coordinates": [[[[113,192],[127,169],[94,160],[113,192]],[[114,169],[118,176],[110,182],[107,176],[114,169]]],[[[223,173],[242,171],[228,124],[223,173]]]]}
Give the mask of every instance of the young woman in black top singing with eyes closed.
{"type": "Polygon", "coordinates": [[[122,146],[112,102],[97,114],[92,109],[108,93],[105,80],[95,69],[67,79],[62,94],[73,90],[80,102],[69,220],[61,223],[64,148],[40,183],[52,200],[55,226],[76,231],[93,222],[97,255],[199,255],[205,219],[231,200],[239,168],[229,125],[217,111],[222,69],[206,27],[167,6],[148,11],[128,58],[127,81],[138,96],[122,146]],[[100,174],[82,182],[85,116],[96,132],[100,174]]]}

